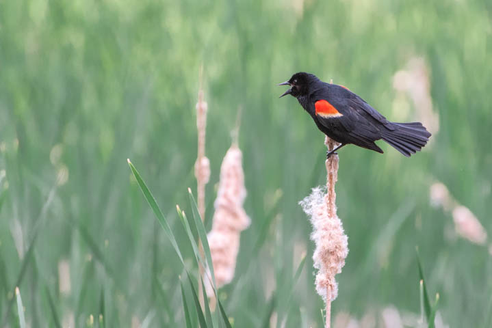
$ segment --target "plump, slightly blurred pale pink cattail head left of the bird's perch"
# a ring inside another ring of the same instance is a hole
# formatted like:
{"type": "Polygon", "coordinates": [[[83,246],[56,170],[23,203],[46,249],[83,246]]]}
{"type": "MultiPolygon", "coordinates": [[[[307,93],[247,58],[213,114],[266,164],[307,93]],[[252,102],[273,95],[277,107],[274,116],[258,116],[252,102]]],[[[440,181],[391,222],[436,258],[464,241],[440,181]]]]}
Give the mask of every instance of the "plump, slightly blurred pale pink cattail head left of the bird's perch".
{"type": "MultiPolygon", "coordinates": [[[[250,219],[244,211],[246,197],[242,152],[233,142],[220,167],[220,182],[213,214],[212,230],[207,235],[216,275],[217,288],[229,284],[234,277],[239,236],[248,228],[250,219]]],[[[213,296],[208,279],[205,279],[207,295],[213,296]]]]}

